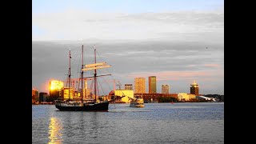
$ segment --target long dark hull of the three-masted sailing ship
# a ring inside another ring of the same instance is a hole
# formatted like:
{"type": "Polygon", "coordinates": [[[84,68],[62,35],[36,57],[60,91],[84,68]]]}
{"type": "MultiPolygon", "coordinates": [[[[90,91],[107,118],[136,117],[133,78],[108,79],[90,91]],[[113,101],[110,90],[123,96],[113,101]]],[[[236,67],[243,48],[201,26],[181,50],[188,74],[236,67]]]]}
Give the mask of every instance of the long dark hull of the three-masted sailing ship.
{"type": "Polygon", "coordinates": [[[92,106],[55,106],[58,110],[61,111],[107,111],[109,109],[109,102],[97,103],[92,106]]]}

